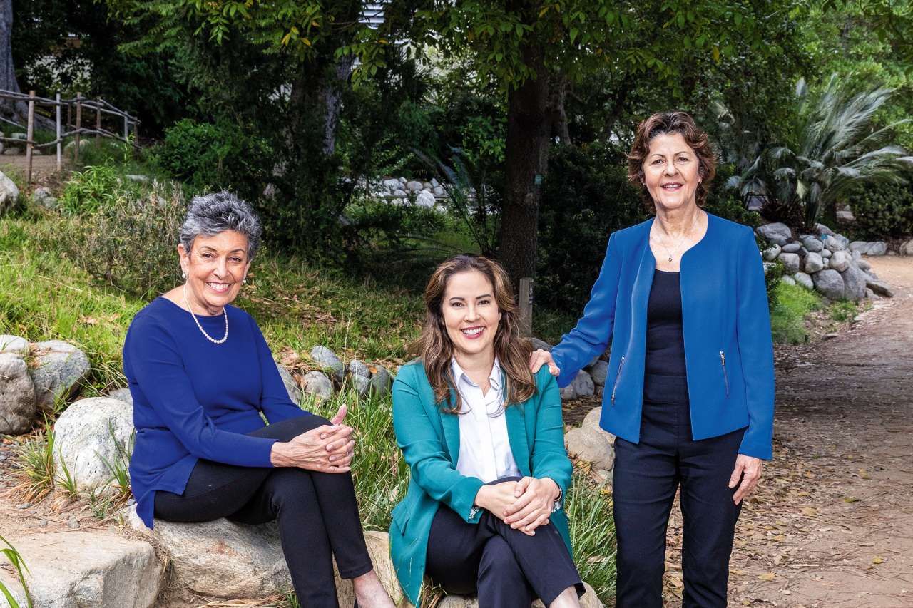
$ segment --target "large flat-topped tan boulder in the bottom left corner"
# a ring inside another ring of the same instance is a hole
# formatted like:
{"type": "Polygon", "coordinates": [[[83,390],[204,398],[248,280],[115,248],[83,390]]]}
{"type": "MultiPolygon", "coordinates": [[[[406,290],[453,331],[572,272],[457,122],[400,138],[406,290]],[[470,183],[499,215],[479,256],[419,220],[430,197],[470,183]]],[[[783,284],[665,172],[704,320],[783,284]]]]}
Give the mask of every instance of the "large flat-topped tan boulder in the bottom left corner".
{"type": "MultiPolygon", "coordinates": [[[[152,545],[110,532],[54,532],[10,539],[26,562],[35,608],[150,608],[164,582],[152,545]]],[[[0,582],[26,606],[16,577],[0,582]]],[[[9,604],[0,597],[0,606],[9,604]]]]}

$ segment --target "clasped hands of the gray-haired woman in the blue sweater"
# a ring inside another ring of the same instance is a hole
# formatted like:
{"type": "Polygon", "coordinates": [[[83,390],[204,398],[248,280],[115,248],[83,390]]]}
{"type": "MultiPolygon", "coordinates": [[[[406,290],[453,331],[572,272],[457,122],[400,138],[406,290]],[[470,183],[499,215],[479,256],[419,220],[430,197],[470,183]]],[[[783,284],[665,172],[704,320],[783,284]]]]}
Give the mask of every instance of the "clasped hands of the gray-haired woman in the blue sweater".
{"type": "Polygon", "coordinates": [[[331,419],[331,425],[320,425],[288,442],[273,444],[270,454],[273,466],[297,466],[321,473],[345,473],[351,469],[355,440],[352,427],[343,425],[346,406],[331,419]]]}

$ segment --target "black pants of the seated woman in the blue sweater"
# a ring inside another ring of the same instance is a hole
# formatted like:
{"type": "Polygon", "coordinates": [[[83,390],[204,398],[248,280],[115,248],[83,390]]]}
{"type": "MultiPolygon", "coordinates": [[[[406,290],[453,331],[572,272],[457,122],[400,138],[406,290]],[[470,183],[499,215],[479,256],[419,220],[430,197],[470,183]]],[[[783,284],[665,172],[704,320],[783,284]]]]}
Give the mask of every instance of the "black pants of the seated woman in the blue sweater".
{"type": "MultiPolygon", "coordinates": [[[[289,441],[330,422],[304,414],[250,435],[289,441]]],[[[155,517],[166,521],[227,518],[246,524],[278,519],[282,551],[302,606],[337,608],[332,557],[340,576],[372,570],[349,473],[223,465],[201,459],[184,494],[155,493],[155,517]]]]}

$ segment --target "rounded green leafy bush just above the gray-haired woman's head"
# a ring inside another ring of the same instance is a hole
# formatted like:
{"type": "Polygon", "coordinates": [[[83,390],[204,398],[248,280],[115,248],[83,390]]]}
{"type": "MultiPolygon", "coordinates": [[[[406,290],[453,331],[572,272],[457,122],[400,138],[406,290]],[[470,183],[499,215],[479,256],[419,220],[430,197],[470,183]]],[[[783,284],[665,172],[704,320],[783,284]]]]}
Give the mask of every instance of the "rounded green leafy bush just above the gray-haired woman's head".
{"type": "Polygon", "coordinates": [[[272,170],[268,142],[228,121],[177,121],[165,130],[154,161],[191,193],[233,190],[254,201],[272,170]]]}

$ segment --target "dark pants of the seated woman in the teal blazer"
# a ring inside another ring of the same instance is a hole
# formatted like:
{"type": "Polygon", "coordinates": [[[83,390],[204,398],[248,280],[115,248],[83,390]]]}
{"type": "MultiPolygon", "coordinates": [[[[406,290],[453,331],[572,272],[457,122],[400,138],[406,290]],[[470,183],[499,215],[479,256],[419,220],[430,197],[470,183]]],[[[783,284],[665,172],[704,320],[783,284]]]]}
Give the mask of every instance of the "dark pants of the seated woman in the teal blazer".
{"type": "Polygon", "coordinates": [[[571,586],[583,593],[567,545],[551,524],[527,536],[488,511],[470,524],[445,505],[431,523],[425,573],[448,593],[478,593],[478,608],[530,608],[537,597],[548,606],[571,586]]]}

